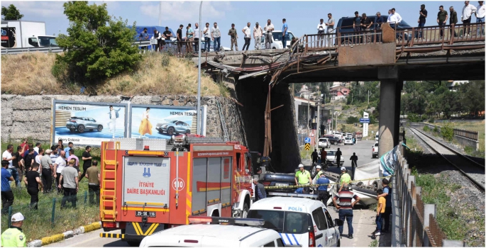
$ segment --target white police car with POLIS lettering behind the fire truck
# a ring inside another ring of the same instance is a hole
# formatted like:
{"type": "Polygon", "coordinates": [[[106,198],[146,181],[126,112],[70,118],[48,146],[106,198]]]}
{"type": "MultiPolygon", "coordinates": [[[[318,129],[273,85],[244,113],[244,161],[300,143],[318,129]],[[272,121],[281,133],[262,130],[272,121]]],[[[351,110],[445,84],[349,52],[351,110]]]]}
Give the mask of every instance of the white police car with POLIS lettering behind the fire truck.
{"type": "Polygon", "coordinates": [[[337,227],[343,221],[333,220],[321,201],[282,196],[265,198],[251,205],[248,218],[265,220],[263,227],[279,232],[285,247],[341,246],[337,227]]]}

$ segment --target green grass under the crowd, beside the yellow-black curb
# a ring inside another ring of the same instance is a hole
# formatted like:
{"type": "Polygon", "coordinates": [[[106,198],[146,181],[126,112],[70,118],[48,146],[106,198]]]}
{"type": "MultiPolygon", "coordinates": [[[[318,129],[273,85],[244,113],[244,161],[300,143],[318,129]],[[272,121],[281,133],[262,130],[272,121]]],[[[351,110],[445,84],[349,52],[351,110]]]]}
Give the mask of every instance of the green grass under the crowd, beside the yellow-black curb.
{"type": "MultiPolygon", "coordinates": [[[[1,150],[6,150],[6,146],[12,144],[16,149],[18,142],[1,142],[1,150]]],[[[50,149],[47,145],[44,149],[50,149]]],[[[75,149],[74,154],[81,158],[82,149],[75,149]]],[[[91,152],[93,159],[100,161],[100,150],[94,148],[91,152]]],[[[81,159],[79,159],[81,160],[81,159]]],[[[98,163],[100,164],[100,163],[98,163]]],[[[99,169],[99,166],[98,166],[99,169]]],[[[25,174],[25,173],[24,173],[25,174]]],[[[26,191],[26,186],[22,182],[21,188],[16,188],[14,183],[11,183],[12,191],[15,200],[12,205],[12,214],[21,212],[26,220],[23,222],[23,232],[27,236],[27,241],[31,242],[34,239],[48,237],[50,235],[59,234],[68,230],[73,230],[82,225],[87,225],[92,222],[99,221],[99,208],[96,205],[89,205],[89,195],[87,203],[84,203],[85,193],[88,191],[88,180],[82,179],[79,183],[79,191],[77,193],[77,208],[60,209],[62,195],[55,193],[39,193],[38,210],[30,208],[29,203],[31,196],[26,191]],[[51,225],[51,217],[53,212],[53,199],[55,199],[55,222],[51,225]]],[[[71,204],[67,203],[69,207],[71,204]]],[[[1,218],[2,230],[8,226],[7,216],[1,218]]]]}

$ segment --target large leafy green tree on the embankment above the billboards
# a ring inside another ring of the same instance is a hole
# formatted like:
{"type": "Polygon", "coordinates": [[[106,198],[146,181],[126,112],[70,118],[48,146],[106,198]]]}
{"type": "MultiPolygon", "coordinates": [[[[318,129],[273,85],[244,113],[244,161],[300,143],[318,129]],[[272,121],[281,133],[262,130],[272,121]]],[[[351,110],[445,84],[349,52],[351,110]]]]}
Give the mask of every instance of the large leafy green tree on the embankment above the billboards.
{"type": "Polygon", "coordinates": [[[53,74],[59,68],[67,69],[71,79],[96,83],[123,71],[131,71],[142,56],[133,46],[135,25],[127,28],[128,21],[112,18],[106,4],[88,5],[87,1],[69,1],[64,13],[70,21],[68,35],[57,36],[57,44],[64,55],[56,55],[53,74]]]}

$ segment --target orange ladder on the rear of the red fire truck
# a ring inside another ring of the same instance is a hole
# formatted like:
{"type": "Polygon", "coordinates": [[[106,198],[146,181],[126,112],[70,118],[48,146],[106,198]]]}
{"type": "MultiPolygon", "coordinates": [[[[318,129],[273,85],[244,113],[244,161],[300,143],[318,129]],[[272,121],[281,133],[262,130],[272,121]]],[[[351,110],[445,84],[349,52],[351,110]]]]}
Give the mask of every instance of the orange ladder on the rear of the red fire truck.
{"type": "Polygon", "coordinates": [[[116,162],[116,156],[118,150],[120,149],[120,142],[115,142],[115,157],[114,160],[106,159],[106,150],[108,149],[108,142],[104,143],[103,150],[103,183],[102,183],[102,194],[101,194],[101,206],[103,210],[101,211],[101,221],[115,221],[116,215],[116,168],[118,167],[118,162],[116,162]],[[107,209],[109,208],[109,209],[107,209]]]}

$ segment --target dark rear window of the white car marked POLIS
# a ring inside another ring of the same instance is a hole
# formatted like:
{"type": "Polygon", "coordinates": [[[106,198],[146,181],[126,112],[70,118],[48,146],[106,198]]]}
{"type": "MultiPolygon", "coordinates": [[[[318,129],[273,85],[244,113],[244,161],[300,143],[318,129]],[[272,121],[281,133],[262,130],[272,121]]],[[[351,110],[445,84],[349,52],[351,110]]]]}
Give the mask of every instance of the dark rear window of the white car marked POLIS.
{"type": "Polygon", "coordinates": [[[248,218],[263,219],[265,220],[263,228],[272,229],[280,233],[302,234],[308,232],[306,213],[250,210],[248,218]]]}

